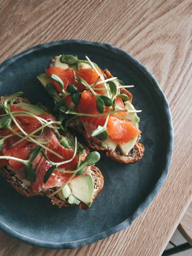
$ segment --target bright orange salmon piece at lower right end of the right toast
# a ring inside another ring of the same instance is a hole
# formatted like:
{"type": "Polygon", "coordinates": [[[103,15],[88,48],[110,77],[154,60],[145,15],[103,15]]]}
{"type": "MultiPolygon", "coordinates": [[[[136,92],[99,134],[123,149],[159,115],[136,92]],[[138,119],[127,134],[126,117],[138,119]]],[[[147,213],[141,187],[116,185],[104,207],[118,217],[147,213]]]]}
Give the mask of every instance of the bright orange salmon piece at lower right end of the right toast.
{"type": "Polygon", "coordinates": [[[116,116],[109,116],[107,131],[109,136],[117,144],[127,143],[141,133],[141,131],[129,123],[129,121],[121,120],[116,116]]]}

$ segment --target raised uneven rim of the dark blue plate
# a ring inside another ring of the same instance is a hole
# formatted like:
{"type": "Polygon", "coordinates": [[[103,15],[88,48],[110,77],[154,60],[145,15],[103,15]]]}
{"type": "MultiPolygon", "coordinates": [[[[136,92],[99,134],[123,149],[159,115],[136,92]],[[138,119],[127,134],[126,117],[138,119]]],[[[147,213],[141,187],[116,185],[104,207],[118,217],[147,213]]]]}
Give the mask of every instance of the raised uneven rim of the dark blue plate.
{"type": "Polygon", "coordinates": [[[109,228],[101,233],[94,234],[93,236],[89,236],[88,238],[83,238],[83,239],[78,239],[76,241],[70,241],[70,242],[58,242],[58,243],[50,243],[50,242],[45,242],[40,239],[34,239],[30,238],[29,236],[25,236],[21,234],[20,232],[12,229],[10,226],[8,226],[6,223],[3,223],[0,221],[0,229],[4,231],[5,233],[13,236],[14,238],[20,239],[21,241],[30,244],[32,246],[38,246],[41,248],[50,248],[50,249],[74,249],[79,246],[95,243],[96,241],[99,241],[101,239],[107,238],[110,235],[117,233],[121,231],[124,228],[127,228],[134,219],[136,219],[153,201],[159,190],[161,189],[162,185],[166,181],[167,174],[170,168],[171,160],[172,160],[172,152],[173,152],[173,145],[174,145],[174,129],[173,129],[173,123],[172,123],[172,117],[170,113],[170,108],[168,101],[166,99],[166,96],[164,95],[161,87],[159,86],[159,83],[157,80],[154,78],[152,73],[139,62],[136,58],[132,57],[129,53],[126,51],[114,47],[113,45],[110,45],[108,43],[102,43],[102,42],[91,42],[87,40],[59,40],[59,41],[53,41],[49,43],[43,43],[40,45],[36,45],[34,47],[29,48],[28,50],[25,50],[21,53],[18,53],[17,55],[14,55],[10,57],[8,60],[5,60],[1,65],[0,65],[0,72],[3,71],[6,66],[10,65],[12,62],[17,60],[18,58],[29,54],[35,50],[41,50],[44,48],[56,46],[56,45],[65,45],[65,44],[87,44],[87,45],[95,45],[97,47],[103,47],[107,48],[113,52],[119,53],[126,57],[131,63],[139,68],[140,71],[144,73],[144,75],[147,76],[151,80],[152,86],[156,90],[157,94],[161,98],[162,101],[162,107],[164,109],[164,116],[166,117],[167,120],[167,158],[164,166],[162,166],[162,174],[157,181],[157,183],[154,185],[154,188],[151,190],[147,198],[137,207],[137,209],[132,213],[132,216],[129,216],[125,221],[122,223],[119,223],[118,225],[109,228]]]}

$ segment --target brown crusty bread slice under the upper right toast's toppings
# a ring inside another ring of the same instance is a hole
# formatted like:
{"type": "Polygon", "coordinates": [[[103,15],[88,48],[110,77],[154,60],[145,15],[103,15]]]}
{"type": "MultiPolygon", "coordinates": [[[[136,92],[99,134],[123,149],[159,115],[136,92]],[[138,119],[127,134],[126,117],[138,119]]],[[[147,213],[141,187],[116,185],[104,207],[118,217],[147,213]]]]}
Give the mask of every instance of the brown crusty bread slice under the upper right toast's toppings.
{"type": "MultiPolygon", "coordinates": [[[[48,68],[55,66],[55,61],[57,57],[58,56],[55,56],[50,59],[48,68]]],[[[111,75],[108,69],[105,69],[104,71],[102,71],[102,73],[105,79],[113,77],[113,75],[111,75]]],[[[132,94],[129,91],[127,91],[126,88],[120,88],[120,92],[123,94],[126,94],[129,97],[129,102],[130,103],[132,102],[132,94]]],[[[84,136],[84,139],[86,140],[86,143],[90,148],[93,148],[94,150],[105,150],[106,156],[108,156],[114,161],[117,161],[118,163],[130,164],[130,163],[136,163],[137,161],[141,160],[144,154],[144,145],[139,143],[139,139],[141,138],[140,135],[136,141],[136,144],[129,151],[128,155],[124,155],[118,146],[116,147],[115,150],[112,150],[108,146],[102,146],[101,142],[95,141],[94,139],[91,139],[90,137],[88,137],[85,129],[83,128],[83,125],[82,126],[76,125],[77,120],[78,120],[78,123],[81,123],[80,118],[77,117],[76,120],[71,121],[69,126],[77,130],[80,134],[84,136]]]]}

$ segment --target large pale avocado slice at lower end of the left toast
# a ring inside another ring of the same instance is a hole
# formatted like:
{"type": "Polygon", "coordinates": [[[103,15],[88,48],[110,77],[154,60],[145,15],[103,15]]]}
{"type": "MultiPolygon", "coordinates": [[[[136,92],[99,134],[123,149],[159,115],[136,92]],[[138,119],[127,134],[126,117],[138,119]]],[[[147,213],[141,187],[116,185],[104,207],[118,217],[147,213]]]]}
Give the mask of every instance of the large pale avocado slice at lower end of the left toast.
{"type": "Polygon", "coordinates": [[[71,189],[72,194],[77,199],[87,204],[89,207],[91,206],[94,193],[93,179],[91,175],[86,174],[80,176],[68,185],[71,189]]]}

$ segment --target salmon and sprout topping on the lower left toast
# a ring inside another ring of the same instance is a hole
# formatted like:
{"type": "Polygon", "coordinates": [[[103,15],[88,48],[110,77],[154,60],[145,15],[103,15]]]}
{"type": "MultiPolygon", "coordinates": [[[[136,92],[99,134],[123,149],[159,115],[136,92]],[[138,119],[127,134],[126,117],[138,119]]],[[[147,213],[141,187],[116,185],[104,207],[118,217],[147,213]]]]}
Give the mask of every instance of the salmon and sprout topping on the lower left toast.
{"type": "Polygon", "coordinates": [[[31,104],[14,104],[21,94],[1,102],[0,166],[10,165],[18,178],[30,181],[34,193],[59,187],[53,196],[74,178],[89,173],[100,155],[96,151],[87,155],[76,138],[61,136],[56,131],[62,128],[61,121],[53,115],[31,104]]]}

